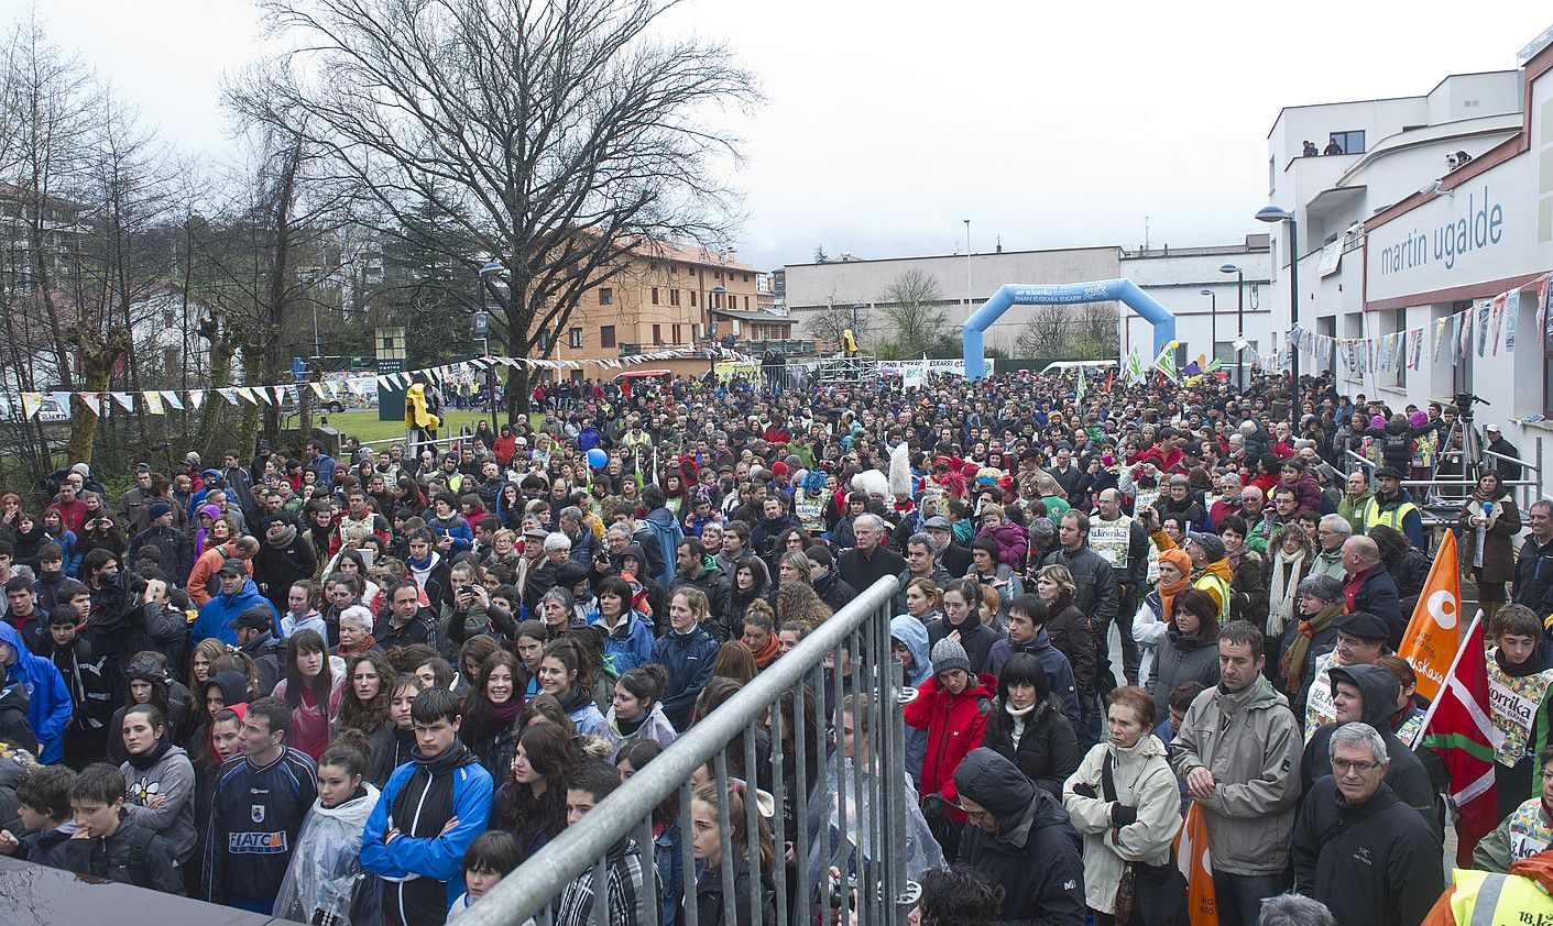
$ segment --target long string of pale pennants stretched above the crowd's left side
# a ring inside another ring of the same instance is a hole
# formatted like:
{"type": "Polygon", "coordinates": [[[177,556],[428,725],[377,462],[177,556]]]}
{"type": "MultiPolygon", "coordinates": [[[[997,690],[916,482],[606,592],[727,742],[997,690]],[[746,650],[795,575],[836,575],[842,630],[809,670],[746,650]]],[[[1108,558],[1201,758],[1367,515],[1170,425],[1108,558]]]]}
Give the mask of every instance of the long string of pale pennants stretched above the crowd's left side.
{"type": "MultiPolygon", "coordinates": [[[[471,374],[485,372],[492,366],[508,366],[516,368],[519,365],[528,366],[530,369],[582,369],[584,366],[596,366],[603,369],[629,369],[643,363],[660,363],[665,360],[677,360],[683,357],[693,357],[700,354],[700,347],[671,347],[668,351],[654,351],[651,354],[632,354],[627,357],[607,357],[603,360],[548,360],[544,357],[475,357],[472,360],[463,360],[460,363],[446,363],[443,366],[427,366],[422,369],[412,369],[405,372],[387,372],[387,374],[360,374],[326,378],[320,382],[303,382],[303,383],[283,383],[278,386],[219,386],[211,389],[141,389],[141,391],[107,391],[107,392],[84,392],[84,391],[64,391],[64,392],[22,392],[22,414],[33,417],[43,408],[43,399],[51,397],[61,409],[70,408],[70,397],[75,396],[82,405],[92,409],[93,414],[102,414],[104,405],[112,402],[124,411],[134,414],[135,411],[144,411],[146,414],[168,414],[168,411],[199,411],[199,408],[213,399],[222,399],[227,405],[297,405],[300,399],[300,391],[303,388],[311,388],[314,396],[320,402],[328,402],[331,399],[343,399],[348,394],[356,397],[367,397],[377,391],[377,388],[393,389],[393,388],[408,388],[416,377],[429,378],[438,385],[449,382],[460,382],[471,374]]],[[[724,360],[735,360],[739,363],[759,363],[758,358],[749,354],[741,354],[739,351],[731,351],[727,347],[716,347],[714,355],[724,360]]]]}

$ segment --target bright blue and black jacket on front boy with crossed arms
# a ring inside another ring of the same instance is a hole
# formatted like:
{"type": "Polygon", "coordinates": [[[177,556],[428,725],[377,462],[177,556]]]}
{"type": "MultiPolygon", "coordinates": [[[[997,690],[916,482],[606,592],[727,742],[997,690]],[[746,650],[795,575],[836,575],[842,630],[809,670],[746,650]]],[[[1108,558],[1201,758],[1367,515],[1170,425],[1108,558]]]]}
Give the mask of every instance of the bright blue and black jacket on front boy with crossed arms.
{"type": "MultiPolygon", "coordinates": [[[[461,748],[457,740],[455,748],[461,748]]],[[[388,814],[394,799],[419,769],[421,765],[416,762],[407,762],[388,776],[377,807],[373,808],[373,816],[367,817],[367,828],[362,831],[362,867],[385,879],[385,892],[396,887],[393,881],[413,875],[446,881],[447,900],[444,903],[446,907],[452,907],[458,895],[464,892],[464,852],[475,841],[475,836],[486,831],[491,819],[491,796],[494,793],[491,772],[478,762],[469,762],[446,772],[453,776],[452,816],[458,819],[457,827],[438,836],[421,838],[408,834],[413,831],[415,821],[394,821],[394,828],[401,830],[402,834],[384,845],[384,833],[388,831],[388,814]]],[[[385,898],[385,914],[387,910],[385,898]]],[[[385,921],[390,921],[387,915],[385,921]]]]}

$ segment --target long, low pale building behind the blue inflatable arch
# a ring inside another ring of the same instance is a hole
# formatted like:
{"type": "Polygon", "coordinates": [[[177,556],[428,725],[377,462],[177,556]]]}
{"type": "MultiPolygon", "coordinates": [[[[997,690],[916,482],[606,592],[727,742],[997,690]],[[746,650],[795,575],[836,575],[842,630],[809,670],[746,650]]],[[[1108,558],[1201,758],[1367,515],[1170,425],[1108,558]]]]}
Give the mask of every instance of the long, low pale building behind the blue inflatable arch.
{"type": "MultiPolygon", "coordinates": [[[[1210,333],[1218,330],[1219,355],[1233,360],[1236,310],[1241,306],[1239,278],[1219,267],[1241,267],[1244,276],[1246,335],[1253,344],[1269,343],[1270,320],[1263,304],[1269,279],[1267,236],[1250,234],[1242,244],[1199,248],[1118,247],[1059,248],[1045,251],[992,251],[938,254],[926,257],[857,259],[843,254],[826,264],[789,264],[780,273],[781,298],[795,323],[795,338],[814,338],[814,320],[836,312],[857,312],[865,329],[881,332],[881,306],[887,290],[910,270],[927,273],[938,282],[943,309],[952,327],[958,329],[999,287],[1005,284],[1067,284],[1095,279],[1127,278],[1159,299],[1177,318],[1177,340],[1186,355],[1208,354],[1210,333]],[[1200,295],[1208,289],[1213,296],[1200,295]],[[1216,312],[1214,312],[1216,309],[1216,312]]],[[[1120,312],[1120,302],[1104,302],[1120,312]]],[[[1067,306],[1079,312],[1082,307],[1067,306]]],[[[986,332],[986,344],[1013,354],[1014,340],[1034,313],[1031,306],[1014,306],[986,332]]],[[[1143,318],[1123,313],[1120,349],[1126,354],[1138,344],[1145,355],[1152,352],[1154,335],[1143,318]]],[[[865,344],[867,347],[867,338],[865,344]]]]}

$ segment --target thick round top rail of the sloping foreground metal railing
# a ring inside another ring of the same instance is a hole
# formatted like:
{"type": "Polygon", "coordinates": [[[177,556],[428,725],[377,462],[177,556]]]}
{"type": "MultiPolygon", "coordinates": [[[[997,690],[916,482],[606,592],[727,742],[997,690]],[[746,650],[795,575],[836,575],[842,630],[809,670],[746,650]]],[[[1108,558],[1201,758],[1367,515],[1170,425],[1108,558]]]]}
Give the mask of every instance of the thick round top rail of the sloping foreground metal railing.
{"type": "Polygon", "coordinates": [[[536,915],[579,872],[592,869],[599,856],[632,833],[658,803],[677,793],[691,772],[708,758],[721,755],[735,735],[766,717],[778,698],[877,613],[895,594],[896,585],[895,577],[885,575],[822,622],[792,651],[763,669],[727,703],[674,740],[662,755],[637,769],[631,780],[589,811],[585,825],[567,827],[460,914],[460,926],[511,926],[536,915]]]}

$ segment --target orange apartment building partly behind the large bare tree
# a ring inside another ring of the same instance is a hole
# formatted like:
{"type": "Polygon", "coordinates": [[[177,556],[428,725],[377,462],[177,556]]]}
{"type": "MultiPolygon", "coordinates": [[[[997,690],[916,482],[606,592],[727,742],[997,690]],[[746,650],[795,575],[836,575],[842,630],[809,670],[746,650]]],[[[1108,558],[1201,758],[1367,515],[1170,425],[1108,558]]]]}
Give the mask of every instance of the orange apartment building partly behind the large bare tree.
{"type": "MultiPolygon", "coordinates": [[[[731,251],[652,242],[637,250],[631,267],[582,293],[550,357],[612,360],[696,347],[730,333],[741,343],[789,338],[792,321],[761,310],[759,275],[731,251]]],[[[573,378],[598,375],[596,368],[573,371],[573,378]]]]}

